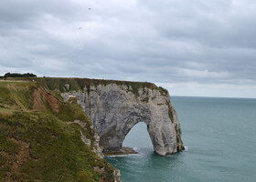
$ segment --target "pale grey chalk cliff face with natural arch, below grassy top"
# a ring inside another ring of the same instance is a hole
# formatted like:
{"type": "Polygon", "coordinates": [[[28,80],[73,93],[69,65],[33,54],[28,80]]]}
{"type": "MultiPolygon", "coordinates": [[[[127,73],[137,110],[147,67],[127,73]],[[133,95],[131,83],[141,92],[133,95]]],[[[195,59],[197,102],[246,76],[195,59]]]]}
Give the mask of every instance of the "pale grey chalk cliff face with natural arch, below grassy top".
{"type": "Polygon", "coordinates": [[[121,150],[124,137],[138,122],[147,125],[155,152],[160,156],[184,149],[180,124],[168,92],[153,86],[134,87],[127,84],[85,85],[61,96],[78,98],[80,106],[100,136],[103,152],[121,150]]]}

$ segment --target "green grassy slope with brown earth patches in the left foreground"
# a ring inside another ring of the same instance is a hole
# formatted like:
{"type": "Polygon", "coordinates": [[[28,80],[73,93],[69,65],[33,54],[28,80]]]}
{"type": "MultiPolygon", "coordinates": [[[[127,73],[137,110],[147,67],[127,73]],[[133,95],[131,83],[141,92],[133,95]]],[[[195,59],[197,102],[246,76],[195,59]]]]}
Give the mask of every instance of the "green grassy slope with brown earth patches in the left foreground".
{"type": "Polygon", "coordinates": [[[52,100],[38,83],[0,82],[0,181],[113,181],[113,167],[80,139],[94,132],[80,106],[58,101],[56,111],[52,100]]]}

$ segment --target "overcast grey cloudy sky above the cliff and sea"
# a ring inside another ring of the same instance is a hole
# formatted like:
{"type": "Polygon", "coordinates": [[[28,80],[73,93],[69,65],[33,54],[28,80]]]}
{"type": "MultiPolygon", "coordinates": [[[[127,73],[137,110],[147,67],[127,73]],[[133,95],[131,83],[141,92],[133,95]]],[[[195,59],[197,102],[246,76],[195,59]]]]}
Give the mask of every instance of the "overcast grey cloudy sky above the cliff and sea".
{"type": "Polygon", "coordinates": [[[256,98],[255,0],[1,0],[0,75],[256,98]]]}

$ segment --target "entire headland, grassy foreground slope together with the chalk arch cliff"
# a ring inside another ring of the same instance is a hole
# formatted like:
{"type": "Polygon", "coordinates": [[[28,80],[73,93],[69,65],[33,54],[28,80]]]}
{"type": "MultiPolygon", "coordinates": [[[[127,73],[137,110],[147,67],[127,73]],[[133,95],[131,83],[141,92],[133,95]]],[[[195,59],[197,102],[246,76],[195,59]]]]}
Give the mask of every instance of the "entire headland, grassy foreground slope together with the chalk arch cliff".
{"type": "Polygon", "coordinates": [[[135,154],[123,140],[138,122],[158,155],[184,150],[168,91],[146,82],[8,78],[0,121],[0,181],[121,181],[103,156],[135,154]]]}

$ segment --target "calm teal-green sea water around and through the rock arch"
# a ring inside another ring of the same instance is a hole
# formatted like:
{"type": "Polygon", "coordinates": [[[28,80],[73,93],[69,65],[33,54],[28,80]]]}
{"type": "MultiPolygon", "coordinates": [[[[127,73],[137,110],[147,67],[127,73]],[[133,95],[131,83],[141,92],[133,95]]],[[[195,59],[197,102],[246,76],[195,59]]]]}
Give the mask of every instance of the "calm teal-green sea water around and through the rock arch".
{"type": "Polygon", "coordinates": [[[144,123],[123,146],[140,155],[106,157],[123,182],[255,182],[256,99],[172,96],[186,150],[155,155],[144,123]]]}

